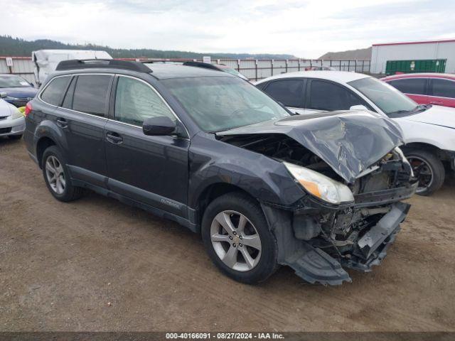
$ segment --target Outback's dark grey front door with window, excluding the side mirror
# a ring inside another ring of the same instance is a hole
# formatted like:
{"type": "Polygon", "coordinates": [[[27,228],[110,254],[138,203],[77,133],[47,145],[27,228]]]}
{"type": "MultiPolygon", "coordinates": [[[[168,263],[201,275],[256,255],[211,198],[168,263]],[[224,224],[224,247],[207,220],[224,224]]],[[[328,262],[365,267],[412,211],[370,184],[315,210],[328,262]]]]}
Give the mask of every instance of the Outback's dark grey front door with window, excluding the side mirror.
{"type": "Polygon", "coordinates": [[[109,189],[186,218],[189,139],[147,136],[144,119],[177,117],[153,86],[135,77],[116,77],[111,118],[105,126],[109,189]]]}

